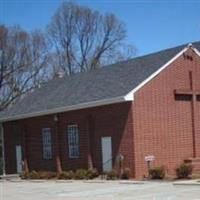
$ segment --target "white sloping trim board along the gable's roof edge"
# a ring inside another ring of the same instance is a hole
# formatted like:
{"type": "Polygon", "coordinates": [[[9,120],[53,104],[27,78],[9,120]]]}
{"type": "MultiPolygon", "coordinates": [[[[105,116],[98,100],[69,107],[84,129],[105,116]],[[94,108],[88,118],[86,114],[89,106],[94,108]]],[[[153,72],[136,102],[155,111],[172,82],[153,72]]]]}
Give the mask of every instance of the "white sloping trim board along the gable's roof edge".
{"type": "Polygon", "coordinates": [[[155,78],[159,73],[161,73],[164,69],[166,69],[170,64],[172,64],[177,58],[179,58],[183,53],[185,53],[189,48],[191,48],[198,56],[200,56],[200,52],[198,49],[192,46],[192,44],[188,44],[187,47],[185,47],[182,51],[180,51],[178,54],[176,54],[171,60],[169,60],[166,64],[164,64],[162,67],[160,67],[156,72],[154,72],[151,76],[149,76],[147,79],[145,79],[142,83],[140,83],[136,88],[134,88],[132,91],[130,91],[128,94],[125,95],[126,100],[134,100],[134,94],[140,90],[144,85],[146,85],[149,81],[151,81],[153,78],[155,78]]]}

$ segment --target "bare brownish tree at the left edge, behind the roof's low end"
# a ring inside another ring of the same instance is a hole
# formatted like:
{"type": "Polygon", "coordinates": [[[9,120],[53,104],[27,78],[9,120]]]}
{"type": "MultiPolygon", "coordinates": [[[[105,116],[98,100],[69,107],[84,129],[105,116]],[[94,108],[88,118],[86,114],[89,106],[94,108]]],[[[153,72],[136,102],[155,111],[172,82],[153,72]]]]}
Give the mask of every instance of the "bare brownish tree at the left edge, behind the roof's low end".
{"type": "Polygon", "coordinates": [[[45,37],[0,25],[0,111],[48,78],[45,37]]]}

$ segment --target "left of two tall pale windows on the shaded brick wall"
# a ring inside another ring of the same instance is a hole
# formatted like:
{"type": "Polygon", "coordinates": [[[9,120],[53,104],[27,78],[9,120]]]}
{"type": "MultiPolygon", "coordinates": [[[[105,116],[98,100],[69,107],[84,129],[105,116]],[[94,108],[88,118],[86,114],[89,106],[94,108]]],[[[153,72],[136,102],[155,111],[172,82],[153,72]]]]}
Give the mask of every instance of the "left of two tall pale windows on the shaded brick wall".
{"type": "Polygon", "coordinates": [[[42,128],[42,151],[43,151],[42,158],[44,160],[52,160],[53,159],[51,128],[42,128]],[[46,131],[48,131],[48,132],[46,132],[46,131]],[[48,137],[47,137],[47,135],[45,135],[47,133],[48,133],[48,137]]]}

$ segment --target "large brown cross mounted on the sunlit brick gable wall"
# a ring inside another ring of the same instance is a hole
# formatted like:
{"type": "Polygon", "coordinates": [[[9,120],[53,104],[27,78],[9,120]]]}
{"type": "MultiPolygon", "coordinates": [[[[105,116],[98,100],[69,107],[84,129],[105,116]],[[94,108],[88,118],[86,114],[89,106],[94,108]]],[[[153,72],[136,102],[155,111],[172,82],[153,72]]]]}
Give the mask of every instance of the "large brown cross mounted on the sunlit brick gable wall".
{"type": "Polygon", "coordinates": [[[200,90],[195,88],[195,79],[192,71],[189,72],[190,89],[175,90],[176,100],[191,101],[191,114],[192,114],[192,140],[193,140],[193,157],[196,157],[196,103],[200,101],[200,90]]]}

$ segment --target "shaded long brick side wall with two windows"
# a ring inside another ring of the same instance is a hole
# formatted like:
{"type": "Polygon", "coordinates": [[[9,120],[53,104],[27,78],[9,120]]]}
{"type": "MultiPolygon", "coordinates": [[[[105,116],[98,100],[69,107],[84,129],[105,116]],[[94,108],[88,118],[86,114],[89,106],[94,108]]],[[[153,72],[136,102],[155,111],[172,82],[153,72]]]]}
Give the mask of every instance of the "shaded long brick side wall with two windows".
{"type": "MultiPolygon", "coordinates": [[[[124,167],[133,167],[133,128],[132,103],[113,104],[91,109],[83,109],[58,114],[58,134],[60,141],[60,155],[64,170],[88,167],[88,134],[91,135],[92,157],[94,167],[101,170],[101,137],[112,137],[113,162],[120,152],[125,156],[124,167]],[[89,128],[88,119],[92,124],[89,128]],[[80,158],[68,157],[67,125],[77,123],[80,135],[80,158]],[[90,131],[89,131],[90,130],[90,131]]],[[[52,130],[52,139],[55,142],[55,122],[53,115],[7,122],[4,124],[6,146],[7,173],[16,172],[15,145],[23,145],[23,134],[27,138],[27,155],[30,170],[56,170],[55,158],[44,160],[42,154],[42,128],[52,130]]],[[[53,145],[55,154],[55,144],[53,145]]],[[[116,166],[116,163],[114,164],[116,166]]]]}

